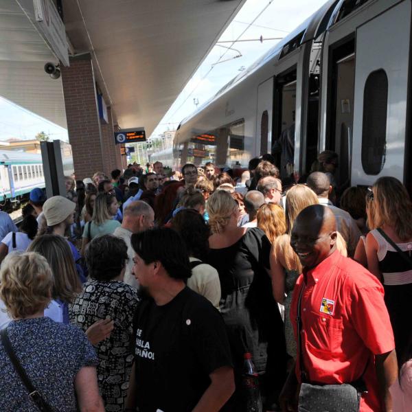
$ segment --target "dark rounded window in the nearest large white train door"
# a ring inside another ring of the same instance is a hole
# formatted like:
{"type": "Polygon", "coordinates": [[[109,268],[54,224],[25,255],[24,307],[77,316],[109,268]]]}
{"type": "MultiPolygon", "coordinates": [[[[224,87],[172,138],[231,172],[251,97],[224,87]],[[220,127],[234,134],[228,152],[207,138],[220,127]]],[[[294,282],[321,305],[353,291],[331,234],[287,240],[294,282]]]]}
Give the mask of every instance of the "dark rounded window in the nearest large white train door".
{"type": "Polygon", "coordinates": [[[369,74],[363,91],[362,167],[378,174],[385,164],[388,78],[385,70],[369,74]]]}

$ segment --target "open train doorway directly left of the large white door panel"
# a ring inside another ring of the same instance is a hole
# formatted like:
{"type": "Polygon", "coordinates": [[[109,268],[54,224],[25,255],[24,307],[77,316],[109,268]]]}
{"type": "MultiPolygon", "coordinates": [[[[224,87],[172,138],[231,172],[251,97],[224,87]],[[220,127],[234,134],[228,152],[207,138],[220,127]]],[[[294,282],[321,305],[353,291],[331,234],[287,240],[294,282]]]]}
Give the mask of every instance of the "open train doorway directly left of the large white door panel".
{"type": "Polygon", "coordinates": [[[325,148],[339,155],[339,168],[336,180],[341,186],[349,185],[353,120],[354,120],[354,82],[355,82],[355,41],[354,37],[331,50],[330,61],[330,102],[328,108],[328,135],[325,148]]]}

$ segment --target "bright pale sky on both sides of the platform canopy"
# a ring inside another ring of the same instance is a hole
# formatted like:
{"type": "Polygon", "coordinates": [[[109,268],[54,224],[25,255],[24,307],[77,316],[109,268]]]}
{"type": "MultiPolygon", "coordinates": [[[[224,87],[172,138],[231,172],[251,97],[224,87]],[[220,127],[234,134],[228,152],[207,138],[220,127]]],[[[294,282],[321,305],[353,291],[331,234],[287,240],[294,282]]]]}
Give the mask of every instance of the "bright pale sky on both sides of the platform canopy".
{"type": "MultiPolygon", "coordinates": [[[[252,65],[275,46],[279,42],[278,38],[293,32],[325,2],[326,0],[247,0],[161,119],[152,137],[165,130],[174,130],[182,119],[196,111],[194,99],[199,106],[207,102],[229,80],[238,76],[242,69],[252,65]],[[258,40],[260,36],[263,38],[262,43],[258,40]],[[230,43],[233,40],[237,42],[230,43]],[[229,43],[220,43],[228,41],[229,43]],[[240,57],[234,58],[235,56],[240,57]]],[[[41,131],[50,135],[50,139],[68,139],[65,128],[0,96],[0,141],[11,137],[33,139],[41,131]]]]}

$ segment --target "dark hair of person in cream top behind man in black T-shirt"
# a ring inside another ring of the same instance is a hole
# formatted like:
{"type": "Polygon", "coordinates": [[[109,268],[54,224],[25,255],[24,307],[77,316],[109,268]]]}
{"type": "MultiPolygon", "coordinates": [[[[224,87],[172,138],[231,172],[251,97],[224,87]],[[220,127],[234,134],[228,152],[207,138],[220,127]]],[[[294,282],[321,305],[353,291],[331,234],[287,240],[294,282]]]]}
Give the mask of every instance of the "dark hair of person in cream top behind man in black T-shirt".
{"type": "Polygon", "coordinates": [[[172,229],[177,231],[193,258],[203,260],[209,250],[210,228],[194,209],[183,209],[174,216],[172,229]]]}

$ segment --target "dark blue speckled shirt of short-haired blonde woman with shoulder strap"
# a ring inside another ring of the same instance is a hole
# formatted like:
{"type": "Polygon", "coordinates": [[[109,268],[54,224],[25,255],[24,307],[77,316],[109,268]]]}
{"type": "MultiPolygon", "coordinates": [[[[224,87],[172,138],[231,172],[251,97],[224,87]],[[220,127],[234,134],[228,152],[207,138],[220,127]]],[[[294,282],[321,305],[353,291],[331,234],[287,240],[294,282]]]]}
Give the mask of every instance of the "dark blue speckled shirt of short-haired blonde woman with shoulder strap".
{"type": "MultiPolygon", "coordinates": [[[[74,378],[98,365],[86,335],[76,326],[47,317],[12,321],[8,336],[23,369],[54,411],[76,411],[74,378]]],[[[0,343],[0,411],[38,412],[0,343]]]]}

